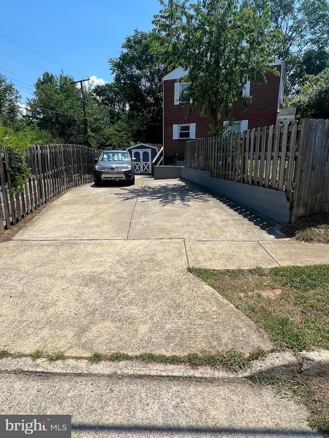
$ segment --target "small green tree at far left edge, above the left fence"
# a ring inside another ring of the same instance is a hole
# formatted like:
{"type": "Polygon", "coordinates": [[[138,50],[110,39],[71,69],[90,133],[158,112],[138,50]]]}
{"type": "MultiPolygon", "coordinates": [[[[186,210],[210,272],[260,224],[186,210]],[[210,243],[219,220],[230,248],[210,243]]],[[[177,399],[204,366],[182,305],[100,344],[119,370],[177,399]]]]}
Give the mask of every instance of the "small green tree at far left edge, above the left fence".
{"type": "Polygon", "coordinates": [[[20,121],[20,93],[0,74],[0,124],[15,127],[20,121]]]}

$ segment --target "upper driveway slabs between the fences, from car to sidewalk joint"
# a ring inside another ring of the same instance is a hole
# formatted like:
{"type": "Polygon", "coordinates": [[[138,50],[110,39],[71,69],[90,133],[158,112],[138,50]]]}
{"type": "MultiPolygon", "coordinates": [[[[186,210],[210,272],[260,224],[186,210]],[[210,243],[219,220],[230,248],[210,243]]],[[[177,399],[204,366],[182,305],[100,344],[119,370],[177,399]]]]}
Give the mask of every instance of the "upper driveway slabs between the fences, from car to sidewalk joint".
{"type": "Polygon", "coordinates": [[[19,240],[260,241],[278,226],[199,186],[137,177],[135,186],[82,185],[49,205],[19,240]]]}

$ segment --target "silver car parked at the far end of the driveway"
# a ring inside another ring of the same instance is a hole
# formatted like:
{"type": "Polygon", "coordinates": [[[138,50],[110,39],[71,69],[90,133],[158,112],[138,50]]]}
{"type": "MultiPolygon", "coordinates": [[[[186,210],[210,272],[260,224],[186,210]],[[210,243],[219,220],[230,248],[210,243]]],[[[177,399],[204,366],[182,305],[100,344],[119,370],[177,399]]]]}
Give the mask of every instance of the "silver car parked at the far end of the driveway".
{"type": "Polygon", "coordinates": [[[95,185],[104,181],[126,181],[135,184],[135,166],[126,150],[104,150],[101,156],[95,159],[95,185]]]}

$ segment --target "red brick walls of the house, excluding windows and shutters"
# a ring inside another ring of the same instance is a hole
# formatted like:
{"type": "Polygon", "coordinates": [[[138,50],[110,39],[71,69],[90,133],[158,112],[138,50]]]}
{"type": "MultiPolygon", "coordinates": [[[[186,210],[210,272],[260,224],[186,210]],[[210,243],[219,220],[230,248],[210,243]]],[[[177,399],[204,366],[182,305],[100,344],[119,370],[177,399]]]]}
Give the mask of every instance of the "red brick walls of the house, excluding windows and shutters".
{"type": "MultiPolygon", "coordinates": [[[[281,66],[277,68],[281,71],[281,66]]],[[[250,85],[252,103],[247,110],[244,111],[242,100],[233,105],[231,116],[237,121],[248,120],[249,129],[276,124],[280,77],[268,73],[266,79],[266,83],[250,85]]],[[[173,140],[173,125],[196,123],[195,137],[202,138],[209,136],[209,125],[213,125],[213,122],[208,117],[199,116],[196,108],[192,109],[190,117],[187,118],[188,104],[174,105],[175,82],[175,79],[163,81],[163,145],[165,156],[178,153],[183,159],[186,140],[173,140]]],[[[221,125],[224,120],[227,119],[220,119],[221,125]]]]}

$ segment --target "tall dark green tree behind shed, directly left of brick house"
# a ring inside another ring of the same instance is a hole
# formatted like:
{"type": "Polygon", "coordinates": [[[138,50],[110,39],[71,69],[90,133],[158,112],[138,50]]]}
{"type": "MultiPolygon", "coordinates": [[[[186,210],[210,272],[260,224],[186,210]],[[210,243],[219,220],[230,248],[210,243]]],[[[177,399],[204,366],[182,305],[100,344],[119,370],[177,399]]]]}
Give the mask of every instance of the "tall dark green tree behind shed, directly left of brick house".
{"type": "Polygon", "coordinates": [[[132,141],[162,142],[162,78],[168,72],[151,53],[150,32],[137,29],[122,44],[119,58],[110,59],[113,87],[120,102],[113,102],[136,127],[132,141]]]}

